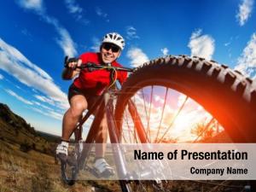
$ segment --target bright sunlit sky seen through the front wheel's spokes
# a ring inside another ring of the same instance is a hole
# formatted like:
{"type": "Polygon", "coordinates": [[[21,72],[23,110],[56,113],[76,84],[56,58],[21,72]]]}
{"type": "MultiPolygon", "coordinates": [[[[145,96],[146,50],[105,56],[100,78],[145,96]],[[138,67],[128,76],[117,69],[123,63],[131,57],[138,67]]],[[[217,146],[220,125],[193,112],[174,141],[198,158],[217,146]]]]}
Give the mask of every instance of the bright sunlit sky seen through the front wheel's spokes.
{"type": "MultiPolygon", "coordinates": [[[[142,94],[137,94],[132,98],[139,113],[137,118],[141,119],[150,142],[191,143],[200,137],[195,134],[194,129],[198,125],[207,125],[212,115],[193,99],[176,90],[170,91],[166,96],[166,102],[164,94],[159,92],[164,93],[164,91],[158,91],[153,99],[150,96],[144,96],[146,99],[143,100],[142,94]]],[[[144,95],[145,93],[147,93],[146,89],[144,95]]],[[[134,137],[135,125],[128,108],[126,108],[124,118],[125,137],[134,137]]]]}

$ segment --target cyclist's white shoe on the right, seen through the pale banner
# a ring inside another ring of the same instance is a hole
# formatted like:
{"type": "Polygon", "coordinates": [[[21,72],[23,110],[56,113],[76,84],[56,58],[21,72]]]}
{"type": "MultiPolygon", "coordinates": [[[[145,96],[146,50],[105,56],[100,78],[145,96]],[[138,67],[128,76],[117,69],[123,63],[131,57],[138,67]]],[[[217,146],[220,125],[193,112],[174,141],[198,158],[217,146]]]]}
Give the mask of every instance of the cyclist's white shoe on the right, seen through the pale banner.
{"type": "Polygon", "coordinates": [[[113,168],[108,165],[104,158],[97,159],[94,164],[97,174],[102,177],[110,177],[114,174],[113,168]]]}

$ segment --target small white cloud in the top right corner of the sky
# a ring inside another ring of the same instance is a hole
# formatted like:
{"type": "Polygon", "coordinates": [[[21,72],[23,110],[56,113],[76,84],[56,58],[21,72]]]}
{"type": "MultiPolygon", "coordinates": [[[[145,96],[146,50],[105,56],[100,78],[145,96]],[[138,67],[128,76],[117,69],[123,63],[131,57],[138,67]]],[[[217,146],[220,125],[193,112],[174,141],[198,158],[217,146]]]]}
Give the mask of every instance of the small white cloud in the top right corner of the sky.
{"type": "Polygon", "coordinates": [[[239,21],[239,25],[243,26],[250,17],[253,10],[253,0],[242,0],[239,4],[239,12],[236,15],[236,19],[239,21]]]}

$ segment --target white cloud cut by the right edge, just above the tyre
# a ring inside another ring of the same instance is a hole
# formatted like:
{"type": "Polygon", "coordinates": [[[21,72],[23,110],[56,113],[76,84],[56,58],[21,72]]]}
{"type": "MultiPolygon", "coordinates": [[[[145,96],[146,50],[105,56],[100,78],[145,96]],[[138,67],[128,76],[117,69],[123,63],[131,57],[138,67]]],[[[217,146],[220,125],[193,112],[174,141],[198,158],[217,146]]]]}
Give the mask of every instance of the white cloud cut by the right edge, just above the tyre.
{"type": "Polygon", "coordinates": [[[238,58],[235,69],[256,79],[256,33],[253,33],[252,38],[247,42],[247,46],[238,58]]]}

